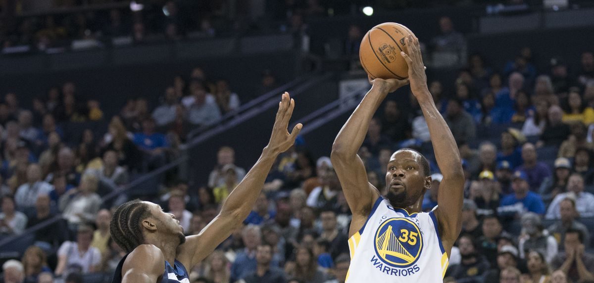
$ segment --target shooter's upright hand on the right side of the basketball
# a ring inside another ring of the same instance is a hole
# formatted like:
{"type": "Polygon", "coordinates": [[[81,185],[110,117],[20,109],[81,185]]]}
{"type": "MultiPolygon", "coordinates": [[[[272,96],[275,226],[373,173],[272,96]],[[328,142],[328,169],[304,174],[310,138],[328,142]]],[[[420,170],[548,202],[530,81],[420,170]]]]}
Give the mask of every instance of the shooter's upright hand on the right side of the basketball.
{"type": "Polygon", "coordinates": [[[418,94],[427,89],[427,76],[425,75],[425,65],[421,56],[421,45],[419,38],[407,36],[405,45],[408,54],[400,52],[409,67],[410,89],[413,94],[418,94]]]}

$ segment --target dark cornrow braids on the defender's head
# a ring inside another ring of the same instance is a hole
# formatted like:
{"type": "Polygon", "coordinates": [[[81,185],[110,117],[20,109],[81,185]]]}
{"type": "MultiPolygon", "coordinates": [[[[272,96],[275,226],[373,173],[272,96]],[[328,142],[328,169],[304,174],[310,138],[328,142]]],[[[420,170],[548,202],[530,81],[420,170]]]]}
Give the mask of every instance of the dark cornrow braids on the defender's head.
{"type": "Polygon", "coordinates": [[[127,253],[144,243],[141,221],[150,216],[149,207],[140,200],[128,201],[113,213],[109,226],[112,239],[127,253]]]}

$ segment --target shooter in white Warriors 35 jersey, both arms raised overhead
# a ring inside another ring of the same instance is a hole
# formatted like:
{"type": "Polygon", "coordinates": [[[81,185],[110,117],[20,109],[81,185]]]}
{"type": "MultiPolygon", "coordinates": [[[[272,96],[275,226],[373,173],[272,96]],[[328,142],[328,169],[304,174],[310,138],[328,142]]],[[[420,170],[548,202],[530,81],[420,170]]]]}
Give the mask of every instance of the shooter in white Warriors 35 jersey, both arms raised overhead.
{"type": "Polygon", "coordinates": [[[350,211],[350,270],[353,282],[443,282],[448,255],[461,229],[464,175],[450,128],[427,88],[419,41],[405,39],[410,88],[421,105],[431,134],[437,164],[443,174],[438,206],[421,213],[425,191],[431,187],[429,163],[419,152],[393,153],[386,173],[387,193],[367,181],[357,155],[369,121],[388,93],[407,80],[375,79],[332,147],[332,165],[340,179],[350,211]]]}

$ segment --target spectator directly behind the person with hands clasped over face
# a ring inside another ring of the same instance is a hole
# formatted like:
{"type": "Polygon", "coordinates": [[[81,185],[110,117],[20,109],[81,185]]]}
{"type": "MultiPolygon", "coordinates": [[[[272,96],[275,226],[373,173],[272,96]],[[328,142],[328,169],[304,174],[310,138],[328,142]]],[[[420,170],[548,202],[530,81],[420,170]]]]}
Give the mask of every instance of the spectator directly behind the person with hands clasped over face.
{"type": "MultiPolygon", "coordinates": [[[[587,248],[590,246],[590,233],[587,227],[576,221],[579,216],[576,210],[576,201],[573,198],[564,198],[559,204],[560,219],[555,221],[551,226],[548,227],[549,233],[555,237],[558,244],[565,243],[565,234],[568,230],[578,230],[584,237],[584,246],[587,248]]],[[[560,245],[563,249],[563,245],[560,245]]]]}

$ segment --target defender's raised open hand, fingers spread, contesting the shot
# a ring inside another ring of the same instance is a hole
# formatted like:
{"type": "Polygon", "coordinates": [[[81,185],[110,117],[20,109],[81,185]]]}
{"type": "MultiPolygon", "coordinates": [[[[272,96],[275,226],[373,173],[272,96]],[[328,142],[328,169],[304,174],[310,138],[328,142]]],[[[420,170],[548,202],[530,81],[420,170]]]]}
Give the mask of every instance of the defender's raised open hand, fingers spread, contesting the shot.
{"type": "Polygon", "coordinates": [[[295,108],[295,101],[290,98],[288,92],[285,92],[279,103],[279,111],[276,112],[276,120],[274,120],[270,142],[268,142],[267,146],[273,153],[280,154],[289,149],[289,147],[295,143],[295,139],[303,127],[303,125],[299,123],[293,127],[291,133],[287,131],[289,120],[293,114],[293,108],[295,108]]]}

